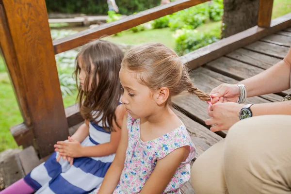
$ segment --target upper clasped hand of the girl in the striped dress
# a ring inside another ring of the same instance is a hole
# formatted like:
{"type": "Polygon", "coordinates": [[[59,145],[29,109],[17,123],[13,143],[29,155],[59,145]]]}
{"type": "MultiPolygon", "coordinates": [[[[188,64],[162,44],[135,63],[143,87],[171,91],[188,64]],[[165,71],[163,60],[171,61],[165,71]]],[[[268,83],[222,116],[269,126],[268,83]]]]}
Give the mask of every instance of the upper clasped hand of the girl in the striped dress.
{"type": "Polygon", "coordinates": [[[82,156],[82,146],[80,142],[70,137],[68,138],[68,142],[57,142],[54,147],[55,151],[60,152],[60,154],[65,157],[79,158],[82,156]]]}

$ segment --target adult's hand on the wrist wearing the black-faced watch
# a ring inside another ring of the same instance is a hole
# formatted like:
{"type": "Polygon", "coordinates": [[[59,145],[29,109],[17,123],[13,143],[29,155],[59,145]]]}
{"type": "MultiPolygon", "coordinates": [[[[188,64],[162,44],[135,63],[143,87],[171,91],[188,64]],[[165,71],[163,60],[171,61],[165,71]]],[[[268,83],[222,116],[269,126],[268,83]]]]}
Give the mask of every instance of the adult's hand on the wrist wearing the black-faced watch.
{"type": "Polygon", "coordinates": [[[212,118],[205,121],[206,125],[214,125],[210,130],[228,130],[233,124],[240,120],[239,113],[244,105],[234,102],[216,103],[210,107],[208,115],[212,118]]]}

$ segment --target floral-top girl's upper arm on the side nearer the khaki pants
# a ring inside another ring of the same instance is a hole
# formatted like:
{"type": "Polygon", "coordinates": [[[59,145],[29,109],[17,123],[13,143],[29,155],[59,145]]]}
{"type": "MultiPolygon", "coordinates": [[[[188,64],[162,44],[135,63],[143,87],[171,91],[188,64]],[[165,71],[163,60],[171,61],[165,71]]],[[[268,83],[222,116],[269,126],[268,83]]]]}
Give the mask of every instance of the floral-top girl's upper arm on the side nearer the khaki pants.
{"type": "Polygon", "coordinates": [[[189,154],[189,149],[184,146],[158,160],[140,194],[161,194],[174,176],[180,163],[187,158],[187,154],[189,154]]]}

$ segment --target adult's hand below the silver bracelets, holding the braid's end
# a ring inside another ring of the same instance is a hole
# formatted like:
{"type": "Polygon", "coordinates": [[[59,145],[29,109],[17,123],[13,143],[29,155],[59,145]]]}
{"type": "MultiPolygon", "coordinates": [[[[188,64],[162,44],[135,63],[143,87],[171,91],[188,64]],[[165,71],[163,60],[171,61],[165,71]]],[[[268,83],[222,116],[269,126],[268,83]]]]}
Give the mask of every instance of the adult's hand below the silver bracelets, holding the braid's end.
{"type": "Polygon", "coordinates": [[[223,83],[210,92],[212,104],[217,102],[237,102],[240,96],[240,88],[237,84],[223,83]]]}

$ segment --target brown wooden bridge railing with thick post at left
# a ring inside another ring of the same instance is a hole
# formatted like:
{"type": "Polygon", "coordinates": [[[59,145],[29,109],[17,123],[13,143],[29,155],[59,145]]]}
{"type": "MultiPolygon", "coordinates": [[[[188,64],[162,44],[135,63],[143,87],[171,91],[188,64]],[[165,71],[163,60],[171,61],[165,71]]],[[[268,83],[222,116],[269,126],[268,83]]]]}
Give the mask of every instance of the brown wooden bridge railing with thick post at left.
{"type": "MultiPolygon", "coordinates": [[[[24,123],[12,127],[11,132],[19,146],[35,142],[35,148],[44,157],[53,151],[52,145],[56,141],[67,137],[68,127],[82,121],[76,106],[64,109],[54,54],[208,0],[176,0],[53,42],[45,0],[2,1],[0,46],[24,118],[24,123]]],[[[196,68],[291,26],[291,14],[271,22],[272,6],[273,0],[260,0],[258,26],[197,49],[180,59],[196,68]]]]}

